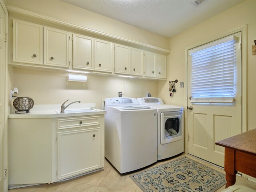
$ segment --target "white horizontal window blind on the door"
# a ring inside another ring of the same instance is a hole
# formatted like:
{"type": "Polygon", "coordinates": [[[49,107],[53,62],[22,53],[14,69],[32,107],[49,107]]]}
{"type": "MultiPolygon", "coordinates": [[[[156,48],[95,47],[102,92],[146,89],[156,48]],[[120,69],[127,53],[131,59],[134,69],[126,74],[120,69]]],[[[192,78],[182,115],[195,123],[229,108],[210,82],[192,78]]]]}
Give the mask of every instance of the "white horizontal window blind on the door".
{"type": "Polygon", "coordinates": [[[190,102],[234,102],[236,37],[211,42],[190,50],[191,100],[190,102]]]}

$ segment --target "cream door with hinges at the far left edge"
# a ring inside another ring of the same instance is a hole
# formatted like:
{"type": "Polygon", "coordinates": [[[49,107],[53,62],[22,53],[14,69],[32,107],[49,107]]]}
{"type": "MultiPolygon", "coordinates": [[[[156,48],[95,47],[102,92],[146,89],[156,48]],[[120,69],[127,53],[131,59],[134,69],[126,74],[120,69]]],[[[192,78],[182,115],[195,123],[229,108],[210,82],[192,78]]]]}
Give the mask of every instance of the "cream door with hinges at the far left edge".
{"type": "MultiPolygon", "coordinates": [[[[7,170],[7,115],[5,110],[6,103],[6,53],[7,45],[5,33],[7,33],[8,12],[3,1],[0,1],[0,191],[7,192],[8,184],[5,175],[7,170]]],[[[7,174],[7,173],[6,173],[7,174]]]]}

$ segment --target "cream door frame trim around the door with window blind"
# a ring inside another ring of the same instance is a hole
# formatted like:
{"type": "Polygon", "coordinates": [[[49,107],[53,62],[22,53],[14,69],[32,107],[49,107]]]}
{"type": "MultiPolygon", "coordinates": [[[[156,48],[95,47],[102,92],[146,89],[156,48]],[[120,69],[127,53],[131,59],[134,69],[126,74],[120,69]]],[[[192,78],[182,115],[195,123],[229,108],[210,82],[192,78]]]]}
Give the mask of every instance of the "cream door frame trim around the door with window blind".
{"type": "MultiPolygon", "coordinates": [[[[241,95],[242,95],[242,132],[246,132],[247,131],[247,78],[246,78],[246,74],[247,74],[247,25],[241,26],[239,28],[236,28],[234,30],[230,30],[224,34],[220,34],[218,36],[214,36],[212,38],[209,38],[208,40],[204,40],[202,42],[196,43],[194,45],[188,46],[185,48],[185,84],[184,84],[184,88],[186,90],[186,97],[185,97],[185,106],[188,106],[188,51],[192,48],[198,47],[198,46],[202,46],[204,44],[208,44],[212,41],[218,40],[220,38],[226,37],[226,36],[230,36],[232,34],[235,34],[237,32],[241,32],[241,42],[242,42],[242,60],[241,60],[241,95]]],[[[188,140],[189,140],[189,135],[188,135],[188,110],[184,110],[184,117],[185,118],[185,134],[184,134],[184,139],[185,139],[185,144],[184,144],[184,152],[186,154],[188,154],[188,140]]]]}

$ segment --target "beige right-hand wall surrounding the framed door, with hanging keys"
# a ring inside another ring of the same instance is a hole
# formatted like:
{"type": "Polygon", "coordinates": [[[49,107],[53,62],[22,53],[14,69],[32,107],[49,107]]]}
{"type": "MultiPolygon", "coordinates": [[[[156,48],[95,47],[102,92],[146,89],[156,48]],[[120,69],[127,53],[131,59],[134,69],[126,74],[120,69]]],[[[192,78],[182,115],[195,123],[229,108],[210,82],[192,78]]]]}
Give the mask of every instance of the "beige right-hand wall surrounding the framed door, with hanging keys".
{"type": "MultiPolygon", "coordinates": [[[[248,130],[256,128],[256,89],[255,89],[255,71],[256,55],[252,55],[253,40],[256,40],[256,1],[243,1],[228,10],[213,16],[212,18],[193,26],[192,28],[181,32],[170,38],[171,54],[168,56],[168,81],[178,79],[179,82],[186,80],[185,71],[185,48],[199,42],[206,41],[214,36],[234,30],[247,24],[247,114],[248,130]]],[[[178,82],[178,87],[180,83],[178,82]]],[[[187,82],[184,82],[185,85],[187,82]]],[[[185,106],[186,90],[176,89],[177,92],[170,98],[168,96],[168,82],[160,81],[158,83],[158,96],[164,102],[185,106]]]]}

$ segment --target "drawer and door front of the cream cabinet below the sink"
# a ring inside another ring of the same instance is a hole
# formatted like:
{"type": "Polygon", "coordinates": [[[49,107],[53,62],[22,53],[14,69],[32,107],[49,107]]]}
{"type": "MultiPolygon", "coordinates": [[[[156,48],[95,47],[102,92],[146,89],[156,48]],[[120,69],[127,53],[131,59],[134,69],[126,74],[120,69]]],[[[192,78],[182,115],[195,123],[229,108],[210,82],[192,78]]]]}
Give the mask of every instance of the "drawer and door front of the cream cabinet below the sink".
{"type": "Polygon", "coordinates": [[[100,168],[100,117],[58,120],[57,179],[100,168]]]}

